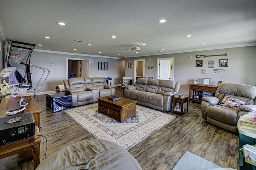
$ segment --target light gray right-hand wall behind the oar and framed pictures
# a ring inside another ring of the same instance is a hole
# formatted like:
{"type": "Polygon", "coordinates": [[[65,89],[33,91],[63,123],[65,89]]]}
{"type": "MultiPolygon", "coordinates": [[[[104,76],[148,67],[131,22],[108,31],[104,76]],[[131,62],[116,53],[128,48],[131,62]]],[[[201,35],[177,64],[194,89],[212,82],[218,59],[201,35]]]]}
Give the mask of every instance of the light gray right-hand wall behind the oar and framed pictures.
{"type": "MultiPolygon", "coordinates": [[[[180,93],[189,94],[189,84],[194,83],[194,79],[211,78],[211,85],[216,85],[218,81],[223,83],[242,83],[256,86],[256,46],[237,47],[228,49],[216,49],[207,51],[195,51],[187,53],[175,53],[165,55],[154,55],[144,57],[126,58],[127,63],[134,63],[134,59],[145,59],[145,66],[154,65],[156,68],[156,58],[174,57],[174,81],[180,81],[180,93]],[[227,53],[227,56],[214,56],[203,58],[203,67],[196,67],[196,55],[218,55],[227,53]],[[191,55],[192,59],[187,56],[191,55]],[[148,62],[148,58],[151,59],[148,62]],[[225,69],[220,73],[214,73],[213,68],[208,67],[208,60],[214,60],[215,69],[225,69]],[[219,59],[228,59],[228,67],[220,67],[219,59]],[[207,69],[207,73],[202,73],[202,68],[207,69]]],[[[125,69],[125,76],[133,77],[133,69],[125,69]]],[[[145,69],[145,77],[156,77],[156,70],[145,69]]]]}

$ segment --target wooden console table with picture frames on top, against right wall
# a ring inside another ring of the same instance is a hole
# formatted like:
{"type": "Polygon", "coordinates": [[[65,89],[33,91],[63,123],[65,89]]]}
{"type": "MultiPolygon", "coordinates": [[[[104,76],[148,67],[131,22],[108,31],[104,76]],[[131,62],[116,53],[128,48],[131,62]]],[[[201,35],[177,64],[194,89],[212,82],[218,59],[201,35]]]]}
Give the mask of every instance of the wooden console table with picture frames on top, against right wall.
{"type": "Polygon", "coordinates": [[[194,101],[201,103],[202,102],[202,93],[210,92],[214,96],[216,93],[218,86],[207,86],[207,85],[189,85],[189,101],[194,101]],[[191,93],[192,92],[192,93],[191,93]],[[198,99],[194,98],[194,96],[198,96],[198,99]]]}

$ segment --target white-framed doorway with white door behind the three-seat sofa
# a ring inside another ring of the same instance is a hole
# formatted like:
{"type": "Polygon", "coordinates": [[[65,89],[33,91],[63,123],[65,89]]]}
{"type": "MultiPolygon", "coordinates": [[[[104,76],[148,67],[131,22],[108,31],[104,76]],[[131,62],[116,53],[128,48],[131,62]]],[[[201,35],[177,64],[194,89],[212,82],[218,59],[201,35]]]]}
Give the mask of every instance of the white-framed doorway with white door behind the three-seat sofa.
{"type": "Polygon", "coordinates": [[[162,80],[174,80],[174,57],[157,58],[156,77],[162,80]]]}

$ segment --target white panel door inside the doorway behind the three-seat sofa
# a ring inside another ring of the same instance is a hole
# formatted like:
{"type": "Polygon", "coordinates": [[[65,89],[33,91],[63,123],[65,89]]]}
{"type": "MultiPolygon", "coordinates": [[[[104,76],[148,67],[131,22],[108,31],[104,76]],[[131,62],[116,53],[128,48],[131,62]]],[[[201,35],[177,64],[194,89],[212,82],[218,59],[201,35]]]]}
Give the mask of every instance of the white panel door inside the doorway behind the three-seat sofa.
{"type": "Polygon", "coordinates": [[[171,80],[170,76],[170,68],[171,62],[170,60],[160,60],[159,65],[159,79],[161,80],[171,80]]]}

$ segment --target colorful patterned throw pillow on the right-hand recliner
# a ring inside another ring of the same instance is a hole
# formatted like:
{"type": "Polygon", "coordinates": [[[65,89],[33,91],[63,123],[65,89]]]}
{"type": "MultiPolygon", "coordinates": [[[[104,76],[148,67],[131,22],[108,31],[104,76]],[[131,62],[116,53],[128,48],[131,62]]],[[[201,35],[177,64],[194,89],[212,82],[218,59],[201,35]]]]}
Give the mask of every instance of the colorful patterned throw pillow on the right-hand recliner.
{"type": "Polygon", "coordinates": [[[246,103],[245,101],[225,95],[222,101],[220,101],[219,105],[230,107],[232,109],[237,109],[238,107],[244,105],[245,103],[246,103]]]}

